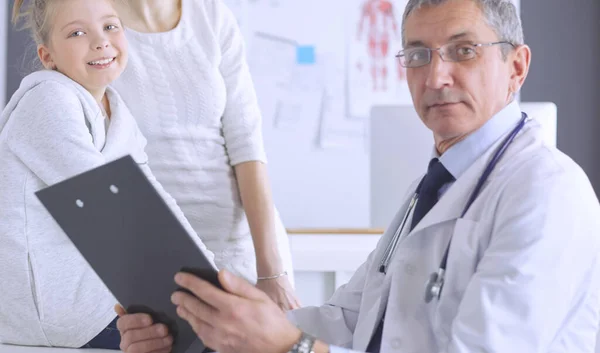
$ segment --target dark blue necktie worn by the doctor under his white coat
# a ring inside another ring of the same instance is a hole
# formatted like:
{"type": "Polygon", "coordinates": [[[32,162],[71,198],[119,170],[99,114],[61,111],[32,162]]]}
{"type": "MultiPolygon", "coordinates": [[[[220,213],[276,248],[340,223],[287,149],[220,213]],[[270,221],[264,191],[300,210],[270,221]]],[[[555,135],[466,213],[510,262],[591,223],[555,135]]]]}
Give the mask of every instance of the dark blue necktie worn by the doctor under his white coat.
{"type": "MultiPolygon", "coordinates": [[[[437,203],[442,186],[452,181],[454,181],[454,177],[437,158],[434,158],[429,162],[427,174],[423,178],[421,187],[418,190],[419,199],[417,200],[417,205],[415,206],[415,211],[413,213],[412,223],[410,225],[411,230],[437,203]]],[[[382,317],[379,321],[379,325],[377,325],[375,333],[373,333],[373,337],[371,337],[371,341],[367,347],[367,352],[369,353],[379,353],[379,350],[381,349],[383,320],[384,318],[382,317]]]]}

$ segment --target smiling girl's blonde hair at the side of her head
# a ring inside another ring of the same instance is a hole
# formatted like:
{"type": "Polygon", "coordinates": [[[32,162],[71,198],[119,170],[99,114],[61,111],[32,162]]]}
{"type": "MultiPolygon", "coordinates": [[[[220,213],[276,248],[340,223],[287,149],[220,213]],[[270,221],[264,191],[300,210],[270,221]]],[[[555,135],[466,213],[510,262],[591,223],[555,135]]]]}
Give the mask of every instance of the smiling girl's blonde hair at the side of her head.
{"type": "Polygon", "coordinates": [[[23,21],[19,29],[28,29],[36,44],[48,44],[54,13],[51,4],[54,0],[15,0],[13,5],[12,22],[15,27],[23,21]],[[28,4],[25,4],[28,2],[28,4]]]}

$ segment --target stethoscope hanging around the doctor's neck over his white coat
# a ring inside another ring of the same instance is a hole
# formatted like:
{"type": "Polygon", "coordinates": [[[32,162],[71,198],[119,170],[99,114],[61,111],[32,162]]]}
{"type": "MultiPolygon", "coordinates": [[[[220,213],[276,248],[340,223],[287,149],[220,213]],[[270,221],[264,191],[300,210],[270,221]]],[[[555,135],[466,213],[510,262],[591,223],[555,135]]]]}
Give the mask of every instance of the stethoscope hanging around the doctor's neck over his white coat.
{"type": "MultiPolygon", "coordinates": [[[[515,137],[517,136],[519,131],[521,131],[521,129],[523,129],[523,126],[525,126],[525,123],[527,122],[527,120],[528,120],[527,114],[521,113],[521,121],[511,131],[510,135],[508,135],[508,137],[502,142],[502,145],[500,145],[500,147],[498,148],[498,150],[492,157],[492,160],[485,167],[483,174],[481,174],[481,176],[479,177],[479,180],[477,181],[477,185],[475,185],[475,189],[471,193],[471,196],[469,197],[467,204],[465,205],[465,208],[463,209],[461,218],[463,218],[465,216],[465,214],[467,213],[467,211],[469,210],[469,208],[471,207],[471,205],[473,204],[473,202],[479,195],[479,192],[483,188],[483,185],[485,184],[486,180],[488,179],[488,177],[490,176],[490,174],[492,173],[492,171],[498,164],[498,161],[500,160],[500,158],[502,158],[502,155],[504,154],[504,152],[506,152],[506,149],[513,142],[513,140],[515,139],[515,137]]],[[[394,237],[392,238],[392,241],[388,244],[388,246],[384,252],[383,259],[381,260],[381,264],[379,265],[379,272],[381,272],[381,273],[386,273],[386,270],[391,261],[392,255],[394,254],[394,251],[396,250],[396,247],[398,246],[398,243],[401,240],[400,239],[401,234],[404,230],[404,226],[406,225],[406,221],[408,220],[410,213],[412,212],[413,208],[415,207],[415,204],[417,203],[417,201],[419,199],[419,191],[421,189],[422,183],[423,183],[423,179],[421,179],[421,182],[417,186],[417,190],[415,191],[413,197],[410,200],[408,209],[406,210],[406,213],[404,214],[404,217],[402,218],[402,223],[400,224],[400,227],[398,227],[398,229],[396,229],[396,232],[394,233],[394,237]]],[[[440,267],[438,268],[438,270],[436,272],[433,272],[430,275],[429,280],[427,281],[427,285],[425,287],[425,302],[426,303],[431,302],[433,300],[433,298],[439,299],[440,295],[442,294],[442,287],[444,286],[444,276],[446,273],[446,266],[448,264],[448,253],[450,252],[450,244],[451,243],[452,243],[452,238],[450,238],[450,241],[448,242],[448,246],[446,246],[446,251],[444,252],[444,257],[442,258],[440,267]]]]}

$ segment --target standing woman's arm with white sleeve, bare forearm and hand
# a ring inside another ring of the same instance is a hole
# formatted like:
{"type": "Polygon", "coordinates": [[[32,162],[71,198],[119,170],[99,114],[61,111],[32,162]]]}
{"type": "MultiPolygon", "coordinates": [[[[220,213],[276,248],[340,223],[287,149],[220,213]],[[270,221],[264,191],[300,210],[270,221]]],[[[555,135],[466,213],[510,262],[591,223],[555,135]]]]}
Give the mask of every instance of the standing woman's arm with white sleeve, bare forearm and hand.
{"type": "MultiPolygon", "coordinates": [[[[262,117],[244,53],[244,39],[236,19],[221,2],[214,1],[216,35],[221,47],[219,70],[227,90],[227,105],[222,118],[223,136],[230,163],[234,166],[240,198],[248,218],[256,251],[259,277],[283,271],[277,247],[275,213],[264,162],[262,117]]],[[[298,306],[287,276],[258,281],[281,308],[298,306]]]]}

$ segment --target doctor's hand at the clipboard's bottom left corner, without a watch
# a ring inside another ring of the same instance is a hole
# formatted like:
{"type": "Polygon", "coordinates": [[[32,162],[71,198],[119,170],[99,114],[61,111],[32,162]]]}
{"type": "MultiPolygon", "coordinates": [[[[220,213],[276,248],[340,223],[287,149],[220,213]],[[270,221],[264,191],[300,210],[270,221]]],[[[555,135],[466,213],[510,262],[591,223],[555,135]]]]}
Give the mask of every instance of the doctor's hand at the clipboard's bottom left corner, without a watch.
{"type": "Polygon", "coordinates": [[[127,314],[121,305],[115,305],[119,315],[117,328],[121,333],[121,350],[125,353],[169,353],[173,337],[163,324],[153,324],[147,314],[127,314]]]}

